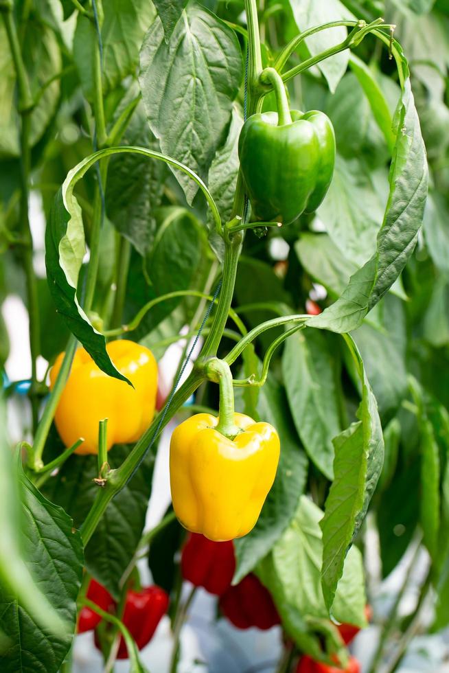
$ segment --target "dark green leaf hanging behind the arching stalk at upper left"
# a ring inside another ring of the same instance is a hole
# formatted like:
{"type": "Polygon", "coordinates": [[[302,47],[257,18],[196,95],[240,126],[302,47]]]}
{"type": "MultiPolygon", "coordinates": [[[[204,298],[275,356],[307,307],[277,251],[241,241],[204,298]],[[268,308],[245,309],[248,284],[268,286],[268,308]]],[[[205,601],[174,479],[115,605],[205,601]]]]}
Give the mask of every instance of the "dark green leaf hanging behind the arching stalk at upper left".
{"type": "MultiPolygon", "coordinates": [[[[135,95],[137,92],[133,89],[133,98],[135,95]]],[[[128,98],[124,100],[123,107],[126,102],[129,102],[128,98]]],[[[148,128],[142,102],[135,109],[121,142],[159,149],[148,128]]],[[[143,256],[150,250],[154,239],[154,209],[161,204],[163,181],[167,174],[161,161],[148,161],[141,155],[112,157],[109,164],[106,212],[115,229],[143,256]]],[[[211,221],[214,222],[213,218],[211,221]]]]}

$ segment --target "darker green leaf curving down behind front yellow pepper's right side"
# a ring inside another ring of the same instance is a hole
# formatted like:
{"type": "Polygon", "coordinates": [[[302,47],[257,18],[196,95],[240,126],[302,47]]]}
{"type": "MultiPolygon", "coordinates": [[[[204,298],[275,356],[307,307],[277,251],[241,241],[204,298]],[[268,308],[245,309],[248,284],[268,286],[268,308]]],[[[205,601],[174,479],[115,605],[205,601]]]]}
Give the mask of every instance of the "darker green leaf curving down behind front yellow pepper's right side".
{"type": "Polygon", "coordinates": [[[253,530],[234,540],[237,584],[268,554],[295,514],[299,497],[306,485],[308,461],[299,444],[295,426],[288,413],[284,390],[268,378],[260,390],[257,404],[260,420],[271,423],[279,433],[281,456],[275,482],[253,530]]]}

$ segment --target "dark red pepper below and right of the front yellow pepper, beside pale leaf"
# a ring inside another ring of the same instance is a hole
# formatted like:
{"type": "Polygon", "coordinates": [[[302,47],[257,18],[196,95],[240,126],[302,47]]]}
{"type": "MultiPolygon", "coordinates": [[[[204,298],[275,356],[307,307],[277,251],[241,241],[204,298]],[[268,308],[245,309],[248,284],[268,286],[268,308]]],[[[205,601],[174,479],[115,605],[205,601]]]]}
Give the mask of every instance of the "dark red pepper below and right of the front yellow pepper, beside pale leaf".
{"type": "Polygon", "coordinates": [[[268,589],[253,573],[229,586],[220,597],[220,610],[237,628],[256,626],[265,630],[281,623],[268,589]]]}

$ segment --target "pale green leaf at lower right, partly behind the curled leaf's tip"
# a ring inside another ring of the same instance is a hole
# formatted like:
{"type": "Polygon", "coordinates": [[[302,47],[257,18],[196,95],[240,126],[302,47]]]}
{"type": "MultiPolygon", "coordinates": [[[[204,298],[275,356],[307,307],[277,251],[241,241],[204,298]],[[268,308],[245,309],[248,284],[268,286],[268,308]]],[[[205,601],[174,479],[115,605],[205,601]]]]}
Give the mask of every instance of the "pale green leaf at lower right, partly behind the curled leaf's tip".
{"type": "MultiPolygon", "coordinates": [[[[305,644],[303,635],[308,631],[308,624],[314,624],[311,619],[329,618],[321,588],[323,543],[319,521],[322,515],[319,507],[302,496],[292,522],[257,569],[262,582],[273,593],[286,631],[299,646],[305,644]]],[[[347,554],[332,616],[337,621],[365,626],[365,602],[362,559],[360,551],[352,547],[347,554]]]]}

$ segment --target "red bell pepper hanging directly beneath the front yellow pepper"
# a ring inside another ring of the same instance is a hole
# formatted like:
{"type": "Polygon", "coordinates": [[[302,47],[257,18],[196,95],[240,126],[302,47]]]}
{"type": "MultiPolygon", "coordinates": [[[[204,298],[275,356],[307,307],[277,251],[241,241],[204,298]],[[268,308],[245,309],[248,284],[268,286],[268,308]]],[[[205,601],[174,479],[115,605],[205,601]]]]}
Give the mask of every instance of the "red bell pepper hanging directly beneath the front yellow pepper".
{"type": "Polygon", "coordinates": [[[194,586],[222,595],[235,572],[233,541],[213,542],[198,533],[189,534],[181,555],[181,572],[194,586]]]}

